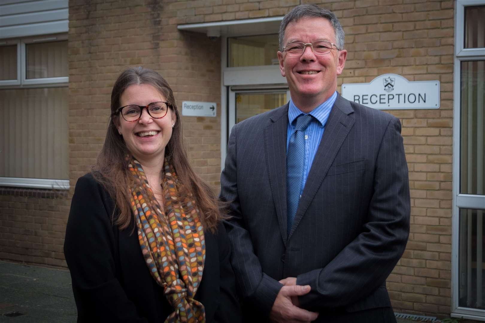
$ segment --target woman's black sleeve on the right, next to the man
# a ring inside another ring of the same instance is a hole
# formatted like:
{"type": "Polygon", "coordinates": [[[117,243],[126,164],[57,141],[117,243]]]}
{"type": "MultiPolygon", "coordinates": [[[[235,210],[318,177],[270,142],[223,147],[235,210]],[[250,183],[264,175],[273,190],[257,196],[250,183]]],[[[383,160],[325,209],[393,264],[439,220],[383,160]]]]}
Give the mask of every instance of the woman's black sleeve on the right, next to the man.
{"type": "Polygon", "coordinates": [[[241,307],[236,296],[236,278],[230,262],[231,245],[222,223],[219,224],[216,237],[219,249],[220,302],[214,320],[221,323],[242,322],[241,307]]]}

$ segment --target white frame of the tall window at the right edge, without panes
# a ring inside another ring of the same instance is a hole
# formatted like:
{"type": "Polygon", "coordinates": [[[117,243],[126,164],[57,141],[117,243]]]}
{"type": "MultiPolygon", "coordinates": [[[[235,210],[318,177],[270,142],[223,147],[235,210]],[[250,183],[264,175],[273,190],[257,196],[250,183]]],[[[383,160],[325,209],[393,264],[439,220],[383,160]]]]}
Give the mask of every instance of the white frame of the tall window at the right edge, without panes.
{"type": "Polygon", "coordinates": [[[485,310],[459,304],[459,209],[485,209],[485,196],[460,194],[461,62],[485,60],[485,48],[464,48],[465,7],[485,5],[485,0],[455,2],[455,57],[453,76],[453,217],[452,217],[452,317],[485,321],[485,310]]]}

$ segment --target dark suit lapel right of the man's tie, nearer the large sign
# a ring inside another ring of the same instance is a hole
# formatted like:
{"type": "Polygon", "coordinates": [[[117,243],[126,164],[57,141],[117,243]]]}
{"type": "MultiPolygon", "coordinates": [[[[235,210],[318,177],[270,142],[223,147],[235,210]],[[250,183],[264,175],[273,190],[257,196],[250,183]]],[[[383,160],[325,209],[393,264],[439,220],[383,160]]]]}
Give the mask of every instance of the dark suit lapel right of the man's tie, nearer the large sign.
{"type": "Polygon", "coordinates": [[[288,238],[291,237],[291,234],[295,231],[298,223],[307,211],[320,185],[322,185],[323,179],[330,165],[332,165],[340,146],[345,138],[347,138],[350,129],[354,126],[355,120],[349,116],[352,112],[354,112],[354,109],[350,105],[350,101],[342,98],[338,94],[327,123],[325,124],[325,131],[323,132],[322,140],[313,159],[310,172],[308,173],[307,182],[303,188],[302,197],[298,204],[295,220],[288,238]]]}

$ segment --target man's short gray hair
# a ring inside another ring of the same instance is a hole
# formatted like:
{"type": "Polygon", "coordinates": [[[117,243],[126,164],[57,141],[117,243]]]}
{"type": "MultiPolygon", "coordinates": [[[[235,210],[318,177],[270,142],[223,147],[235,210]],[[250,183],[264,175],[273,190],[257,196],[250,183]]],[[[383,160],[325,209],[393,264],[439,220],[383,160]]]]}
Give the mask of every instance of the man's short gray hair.
{"type": "Polygon", "coordinates": [[[330,10],[322,9],[315,4],[300,4],[294,7],[288,14],[285,15],[279,26],[279,50],[283,51],[283,39],[285,38],[285,30],[291,21],[298,21],[302,18],[322,17],[330,21],[335,31],[335,39],[337,40],[337,49],[343,49],[343,41],[345,33],[342,26],[340,26],[339,19],[330,10]]]}

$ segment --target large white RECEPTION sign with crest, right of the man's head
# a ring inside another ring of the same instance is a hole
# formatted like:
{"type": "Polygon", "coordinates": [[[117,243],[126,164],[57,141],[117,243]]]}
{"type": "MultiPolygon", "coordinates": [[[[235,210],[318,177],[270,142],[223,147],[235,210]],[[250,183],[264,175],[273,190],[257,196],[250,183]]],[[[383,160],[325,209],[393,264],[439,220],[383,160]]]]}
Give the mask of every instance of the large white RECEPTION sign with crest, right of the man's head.
{"type": "Polygon", "coordinates": [[[383,74],[370,83],[342,84],[342,96],[375,109],[437,109],[439,81],[408,81],[383,74]]]}

